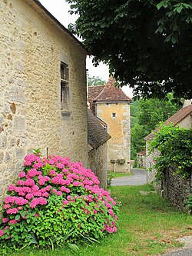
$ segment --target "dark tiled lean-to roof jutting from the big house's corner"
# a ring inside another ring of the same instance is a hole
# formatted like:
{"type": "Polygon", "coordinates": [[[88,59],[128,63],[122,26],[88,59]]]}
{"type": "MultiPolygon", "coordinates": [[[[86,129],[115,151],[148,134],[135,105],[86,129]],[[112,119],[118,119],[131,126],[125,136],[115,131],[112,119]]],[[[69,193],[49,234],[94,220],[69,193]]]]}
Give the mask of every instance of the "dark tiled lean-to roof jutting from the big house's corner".
{"type": "Polygon", "coordinates": [[[98,148],[111,138],[108,132],[88,109],[88,144],[92,148],[98,148]]]}

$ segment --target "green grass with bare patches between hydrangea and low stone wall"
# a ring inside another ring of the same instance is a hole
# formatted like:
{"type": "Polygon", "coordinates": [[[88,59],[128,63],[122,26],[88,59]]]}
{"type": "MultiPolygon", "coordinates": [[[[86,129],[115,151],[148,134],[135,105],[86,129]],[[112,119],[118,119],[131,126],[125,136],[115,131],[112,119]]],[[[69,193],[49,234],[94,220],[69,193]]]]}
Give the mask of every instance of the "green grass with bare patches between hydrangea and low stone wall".
{"type": "Polygon", "coordinates": [[[151,185],[111,187],[111,194],[122,202],[118,233],[100,244],[82,246],[78,254],[61,248],[55,251],[26,249],[8,256],[146,256],[178,247],[175,239],[191,234],[192,216],[175,210],[164,198],[159,198],[151,185]],[[140,191],[148,191],[141,195],[140,191]]]}

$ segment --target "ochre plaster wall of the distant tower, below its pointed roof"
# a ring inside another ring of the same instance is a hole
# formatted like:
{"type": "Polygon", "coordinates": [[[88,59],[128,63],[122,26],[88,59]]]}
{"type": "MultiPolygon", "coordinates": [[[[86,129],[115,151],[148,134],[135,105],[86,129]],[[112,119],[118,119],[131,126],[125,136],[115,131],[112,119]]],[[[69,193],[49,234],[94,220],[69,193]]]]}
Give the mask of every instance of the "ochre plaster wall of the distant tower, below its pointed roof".
{"type": "Polygon", "coordinates": [[[108,169],[117,172],[130,171],[131,128],[130,105],[127,102],[98,103],[96,115],[108,124],[108,169]],[[116,113],[116,118],[112,118],[116,113]],[[124,159],[120,164],[118,160],[124,159]],[[116,163],[111,163],[111,160],[116,163]]]}

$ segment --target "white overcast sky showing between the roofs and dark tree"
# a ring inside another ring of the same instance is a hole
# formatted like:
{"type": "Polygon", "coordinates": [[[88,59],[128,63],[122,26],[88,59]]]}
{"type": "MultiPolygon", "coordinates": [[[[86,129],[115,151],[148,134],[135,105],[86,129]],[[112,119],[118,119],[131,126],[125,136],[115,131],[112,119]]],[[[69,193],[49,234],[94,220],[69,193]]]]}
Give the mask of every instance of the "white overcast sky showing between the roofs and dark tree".
{"type": "MultiPolygon", "coordinates": [[[[40,0],[41,4],[45,6],[48,12],[51,12],[51,15],[55,16],[58,21],[68,28],[68,24],[74,23],[77,16],[70,15],[68,10],[70,9],[70,5],[68,5],[65,0],[40,0]]],[[[90,77],[98,76],[105,81],[108,81],[109,74],[108,74],[108,67],[104,64],[100,64],[97,68],[92,65],[91,58],[87,58],[87,69],[88,74],[90,77]]],[[[132,91],[128,87],[123,88],[124,92],[129,96],[132,97],[132,91]]]]}

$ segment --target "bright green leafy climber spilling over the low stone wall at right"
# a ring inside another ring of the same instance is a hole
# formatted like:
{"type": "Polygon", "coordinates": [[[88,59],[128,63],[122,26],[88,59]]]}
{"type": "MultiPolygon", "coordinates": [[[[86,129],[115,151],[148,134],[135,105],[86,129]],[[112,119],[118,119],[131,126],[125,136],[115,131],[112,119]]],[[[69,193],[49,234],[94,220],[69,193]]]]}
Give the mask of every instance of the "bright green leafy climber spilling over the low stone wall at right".
{"type": "Polygon", "coordinates": [[[151,141],[151,151],[157,148],[161,152],[157,158],[157,178],[168,168],[174,167],[175,173],[188,178],[192,166],[192,130],[174,125],[163,125],[151,141]]]}

